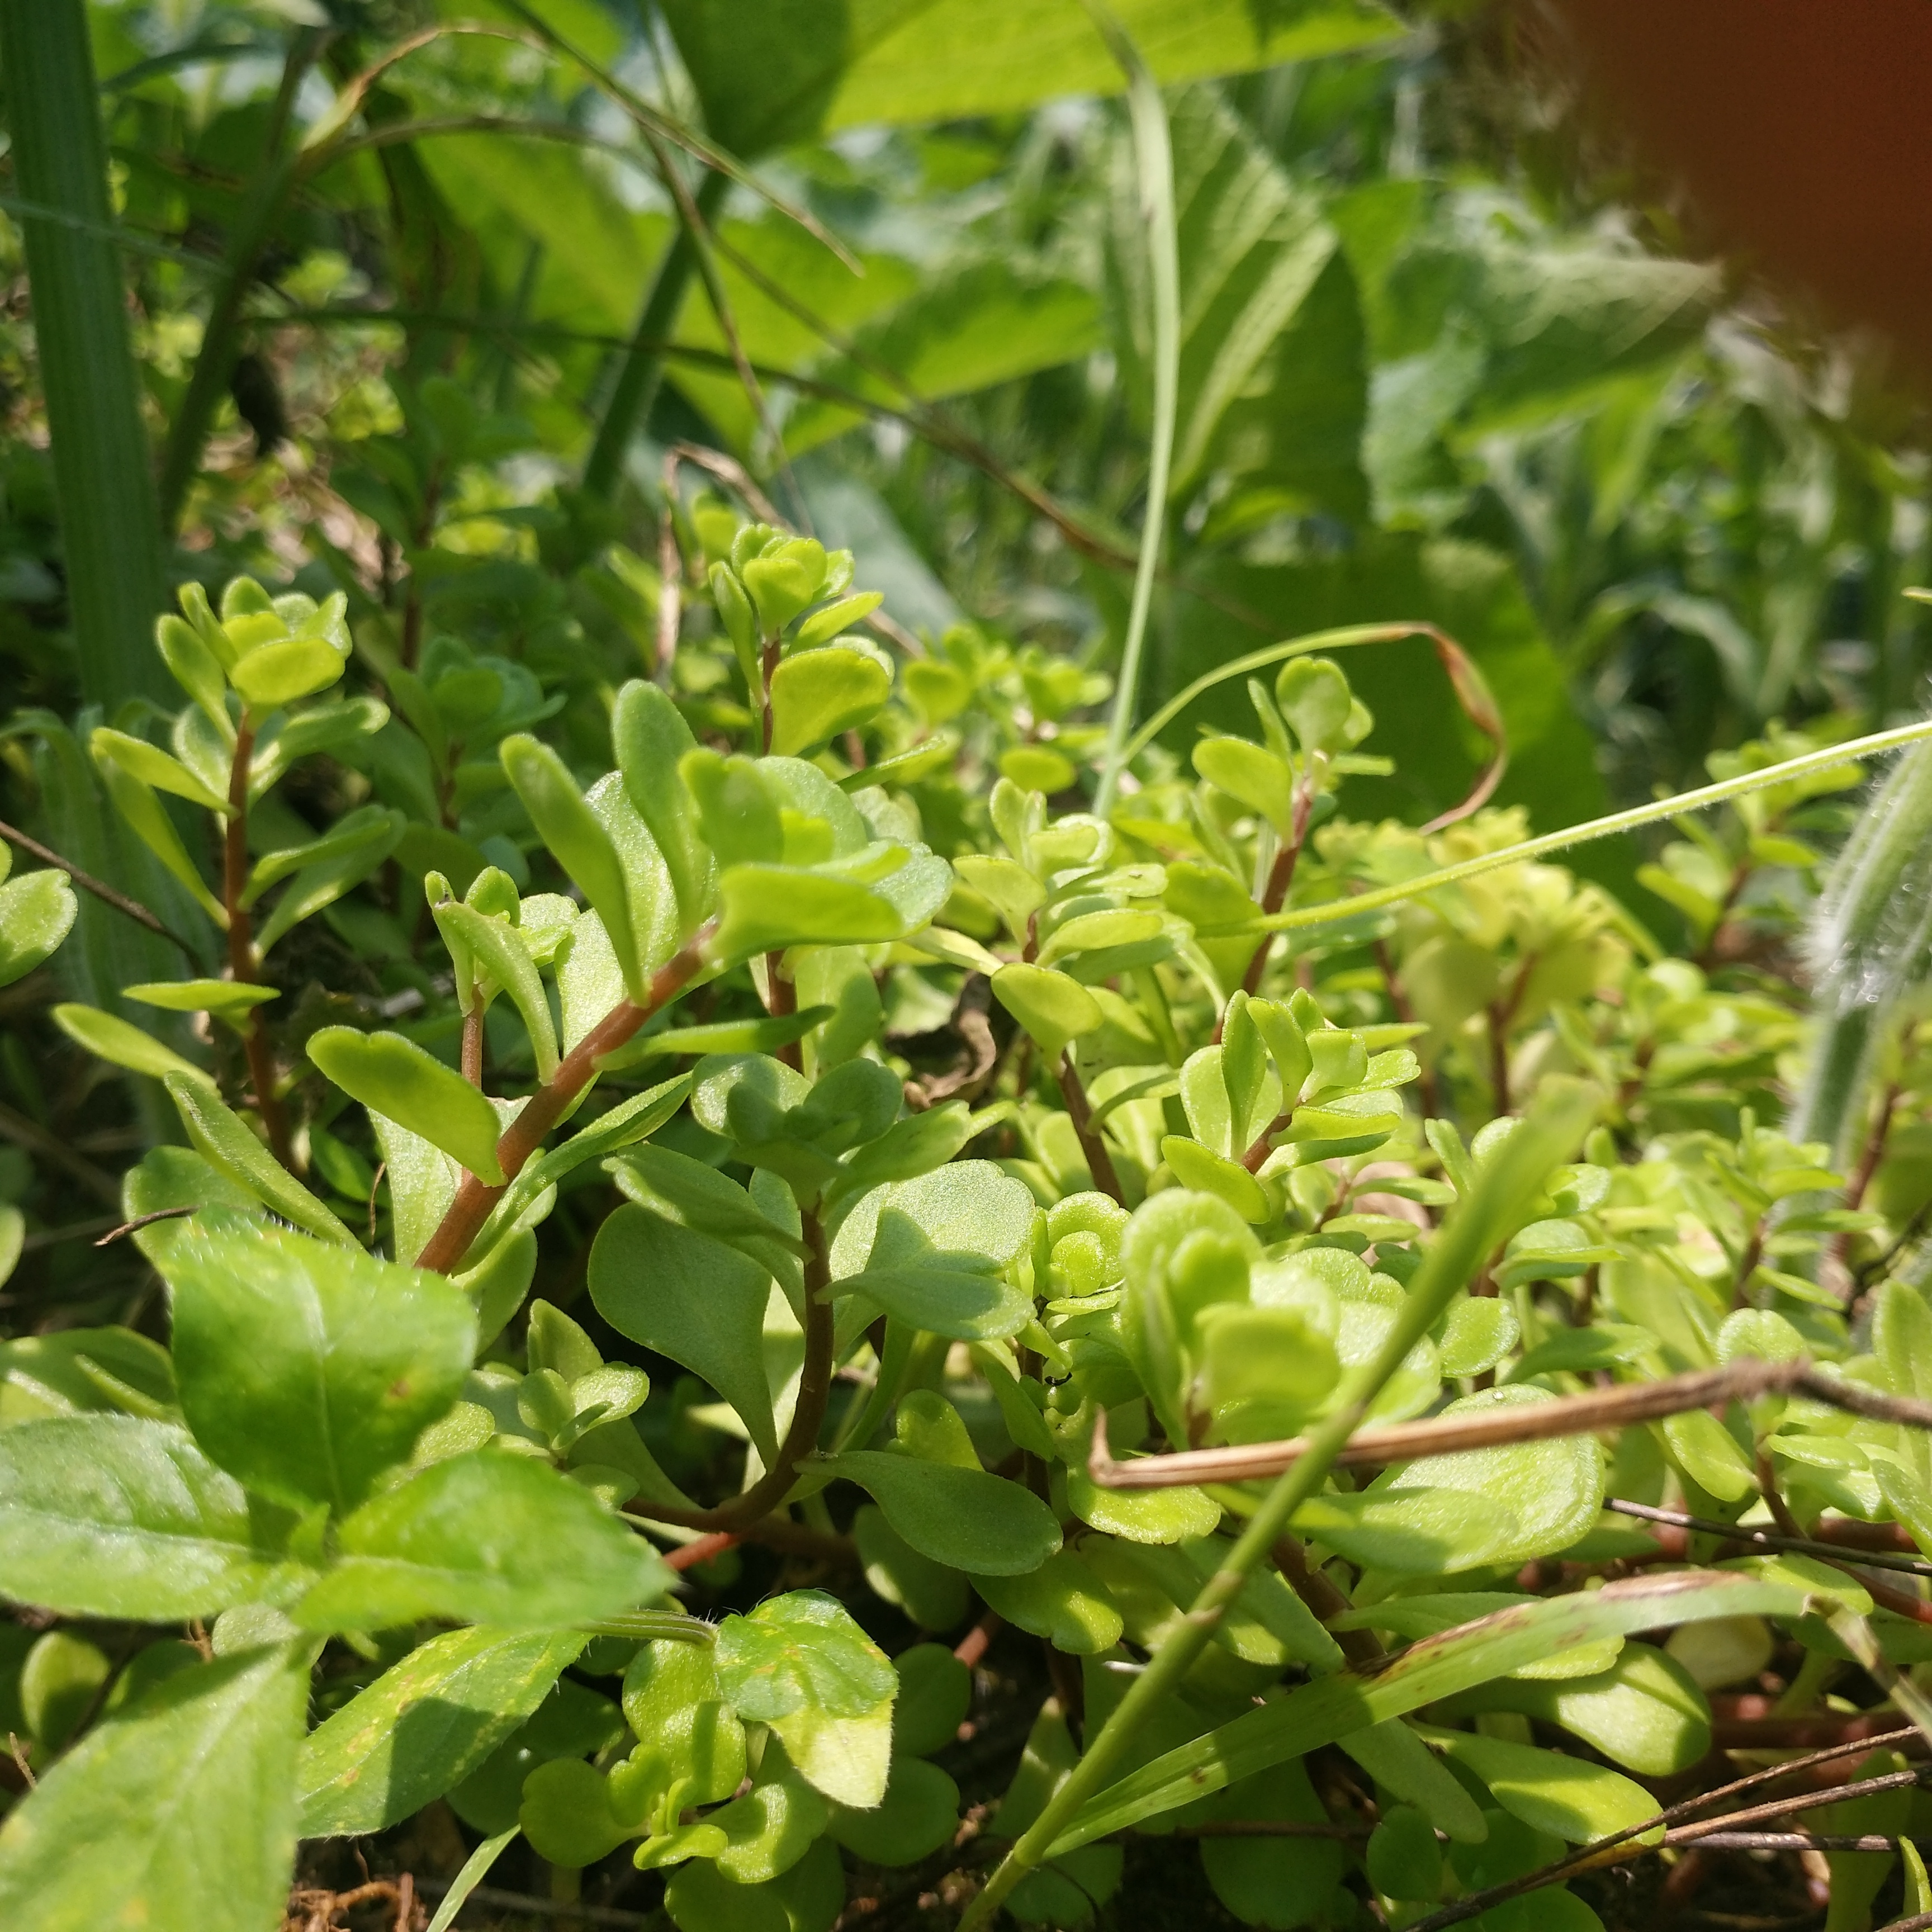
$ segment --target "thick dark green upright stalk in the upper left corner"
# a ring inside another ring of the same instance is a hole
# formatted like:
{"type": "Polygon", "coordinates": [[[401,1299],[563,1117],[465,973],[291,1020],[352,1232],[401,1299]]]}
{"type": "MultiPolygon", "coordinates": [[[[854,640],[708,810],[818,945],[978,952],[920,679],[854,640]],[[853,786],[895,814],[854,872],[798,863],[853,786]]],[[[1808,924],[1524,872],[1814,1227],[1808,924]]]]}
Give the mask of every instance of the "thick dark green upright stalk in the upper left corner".
{"type": "MultiPolygon", "coordinates": [[[[0,0],[14,180],[48,218],[17,214],[52,433],[54,495],[81,694],[102,711],[170,697],[155,655],[166,605],[160,516],[128,346],[128,299],[108,205],[87,10],[0,0]]],[[[133,881],[129,881],[133,883],[133,881]]]]}

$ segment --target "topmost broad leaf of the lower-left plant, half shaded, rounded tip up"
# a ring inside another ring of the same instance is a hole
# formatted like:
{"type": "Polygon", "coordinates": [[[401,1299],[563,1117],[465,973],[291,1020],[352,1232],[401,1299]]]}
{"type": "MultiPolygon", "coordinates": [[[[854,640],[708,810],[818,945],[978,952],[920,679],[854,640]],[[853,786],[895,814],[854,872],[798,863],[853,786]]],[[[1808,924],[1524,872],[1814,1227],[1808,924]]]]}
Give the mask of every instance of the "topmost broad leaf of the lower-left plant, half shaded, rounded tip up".
{"type": "Polygon", "coordinates": [[[475,1314],[442,1275],[209,1217],[162,1271],[187,1424],[276,1501],[354,1509],[462,1393],[475,1314]]]}

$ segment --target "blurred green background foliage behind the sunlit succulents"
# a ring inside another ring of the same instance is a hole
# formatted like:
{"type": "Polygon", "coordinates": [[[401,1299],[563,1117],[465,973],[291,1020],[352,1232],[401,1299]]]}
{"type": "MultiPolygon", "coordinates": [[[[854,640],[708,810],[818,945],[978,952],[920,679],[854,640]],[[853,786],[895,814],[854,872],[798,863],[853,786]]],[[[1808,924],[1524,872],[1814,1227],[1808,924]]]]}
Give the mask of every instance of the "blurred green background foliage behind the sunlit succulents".
{"type": "MultiPolygon", "coordinates": [[[[1538,829],[1698,782],[1774,721],[1915,709],[1920,413],[1870,344],[1687,259],[1520,17],[1119,12],[1169,85],[1184,303],[1144,707],[1298,630],[1435,620],[1497,692],[1499,798],[1538,829]]],[[[688,442],[856,547],[908,630],[1032,647],[1039,728],[1097,688],[1055,667],[1119,649],[1151,383],[1126,114],[1072,0],[87,23],[172,576],[342,589],[404,661],[508,659],[601,759],[599,694],[653,659],[688,442]]],[[[0,713],[71,717],[23,213],[0,174],[0,713]]],[[[1428,645],[1350,674],[1397,765],[1356,810],[1461,796],[1484,746],[1428,645]]],[[[1238,724],[1238,686],[1215,696],[1177,744],[1238,724]]],[[[12,817],[60,804],[56,750],[6,742],[12,817]]],[[[1638,858],[1586,864],[1667,927],[1638,858]]]]}

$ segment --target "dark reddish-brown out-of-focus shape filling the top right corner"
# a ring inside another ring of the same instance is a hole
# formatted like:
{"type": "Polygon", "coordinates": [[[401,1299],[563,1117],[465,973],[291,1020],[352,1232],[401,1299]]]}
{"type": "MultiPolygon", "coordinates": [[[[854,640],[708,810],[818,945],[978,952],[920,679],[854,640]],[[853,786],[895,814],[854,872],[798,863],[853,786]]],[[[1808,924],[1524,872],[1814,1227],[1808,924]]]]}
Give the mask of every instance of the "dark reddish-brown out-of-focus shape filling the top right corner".
{"type": "Polygon", "coordinates": [[[1692,224],[1932,379],[1928,0],[1544,0],[1692,224]]]}

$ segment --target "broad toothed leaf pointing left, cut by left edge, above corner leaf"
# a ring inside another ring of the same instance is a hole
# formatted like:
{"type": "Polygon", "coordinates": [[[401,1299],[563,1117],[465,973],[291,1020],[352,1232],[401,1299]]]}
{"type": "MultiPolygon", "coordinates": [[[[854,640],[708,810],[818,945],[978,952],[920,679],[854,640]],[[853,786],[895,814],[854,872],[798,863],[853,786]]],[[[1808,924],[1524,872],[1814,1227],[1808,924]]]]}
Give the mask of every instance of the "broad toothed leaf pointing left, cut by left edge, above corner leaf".
{"type": "Polygon", "coordinates": [[[0,1430],[0,1592],[66,1617],[178,1623],[278,1571],[242,1486],[185,1430],[50,1416],[0,1430]]]}

